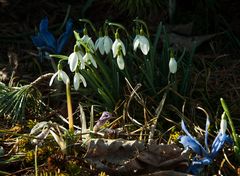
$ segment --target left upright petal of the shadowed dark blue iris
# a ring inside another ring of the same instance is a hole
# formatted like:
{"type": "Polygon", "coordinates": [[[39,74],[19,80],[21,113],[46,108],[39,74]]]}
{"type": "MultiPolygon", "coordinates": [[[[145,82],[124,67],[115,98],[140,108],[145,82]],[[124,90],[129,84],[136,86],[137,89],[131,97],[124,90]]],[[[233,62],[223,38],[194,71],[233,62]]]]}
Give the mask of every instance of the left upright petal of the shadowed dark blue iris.
{"type": "Polygon", "coordinates": [[[39,36],[45,42],[45,45],[52,50],[56,50],[56,39],[52,33],[48,31],[48,19],[45,17],[41,20],[39,26],[39,36]]]}

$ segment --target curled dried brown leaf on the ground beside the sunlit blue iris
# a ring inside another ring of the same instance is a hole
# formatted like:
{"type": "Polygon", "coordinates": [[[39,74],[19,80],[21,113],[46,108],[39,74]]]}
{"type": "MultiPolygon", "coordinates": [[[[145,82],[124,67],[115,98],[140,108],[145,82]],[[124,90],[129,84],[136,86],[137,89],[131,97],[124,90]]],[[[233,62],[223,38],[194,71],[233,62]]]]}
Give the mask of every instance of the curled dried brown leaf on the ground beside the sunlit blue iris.
{"type": "Polygon", "coordinates": [[[124,139],[92,139],[86,160],[97,169],[111,173],[133,171],[186,170],[188,153],[175,144],[151,144],[124,139]],[[181,170],[181,169],[180,169],[181,170]]]}

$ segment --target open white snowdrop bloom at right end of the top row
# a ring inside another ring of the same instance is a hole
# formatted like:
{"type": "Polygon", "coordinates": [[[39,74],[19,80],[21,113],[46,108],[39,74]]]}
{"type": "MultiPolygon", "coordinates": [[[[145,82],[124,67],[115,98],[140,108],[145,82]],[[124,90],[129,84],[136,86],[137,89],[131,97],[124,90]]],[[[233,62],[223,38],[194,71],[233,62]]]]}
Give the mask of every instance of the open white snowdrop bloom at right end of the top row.
{"type": "Polygon", "coordinates": [[[133,40],[133,50],[140,48],[144,55],[147,55],[150,49],[149,41],[144,35],[137,34],[133,40]]]}

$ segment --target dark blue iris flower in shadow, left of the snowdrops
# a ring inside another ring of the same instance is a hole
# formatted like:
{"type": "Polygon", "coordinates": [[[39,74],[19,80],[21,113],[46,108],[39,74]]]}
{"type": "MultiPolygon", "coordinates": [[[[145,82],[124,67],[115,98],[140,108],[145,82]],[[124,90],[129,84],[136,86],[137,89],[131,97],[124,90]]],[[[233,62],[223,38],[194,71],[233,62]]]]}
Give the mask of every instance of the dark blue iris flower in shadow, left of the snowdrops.
{"type": "Polygon", "coordinates": [[[69,19],[66,23],[66,31],[56,40],[53,34],[48,31],[48,18],[45,17],[40,22],[38,34],[32,36],[32,41],[40,50],[59,54],[72,34],[73,22],[69,19]]]}

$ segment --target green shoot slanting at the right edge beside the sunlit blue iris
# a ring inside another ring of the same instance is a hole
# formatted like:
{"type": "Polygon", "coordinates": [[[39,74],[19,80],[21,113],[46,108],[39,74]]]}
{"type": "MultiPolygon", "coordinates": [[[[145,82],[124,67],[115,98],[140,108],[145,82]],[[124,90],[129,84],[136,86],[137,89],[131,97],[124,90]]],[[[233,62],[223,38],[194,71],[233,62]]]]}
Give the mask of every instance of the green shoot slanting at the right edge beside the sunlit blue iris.
{"type": "Polygon", "coordinates": [[[229,125],[230,125],[231,130],[232,130],[232,136],[233,136],[234,143],[235,143],[237,149],[239,150],[240,149],[240,143],[238,141],[237,133],[236,133],[236,130],[235,130],[235,127],[234,127],[234,124],[233,124],[233,121],[232,121],[229,109],[228,109],[227,104],[225,103],[223,98],[220,98],[220,101],[221,101],[223,110],[224,110],[224,112],[226,113],[226,115],[228,117],[229,125]]]}

